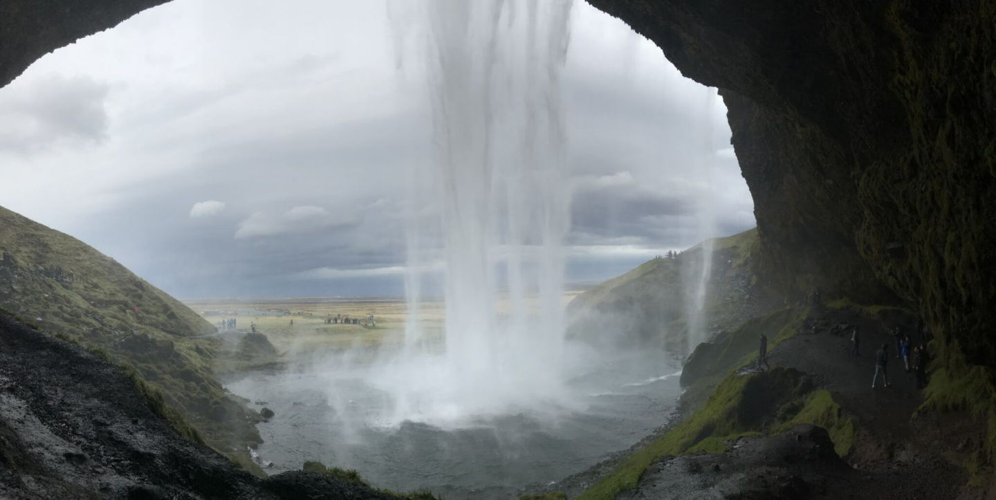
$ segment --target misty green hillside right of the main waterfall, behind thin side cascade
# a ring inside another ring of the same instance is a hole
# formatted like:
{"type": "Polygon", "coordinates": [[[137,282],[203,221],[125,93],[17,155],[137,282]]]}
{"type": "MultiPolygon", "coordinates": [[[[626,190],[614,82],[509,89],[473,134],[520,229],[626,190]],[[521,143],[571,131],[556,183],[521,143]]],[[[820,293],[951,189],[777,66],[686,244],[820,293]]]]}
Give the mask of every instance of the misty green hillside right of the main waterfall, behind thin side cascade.
{"type": "Polygon", "coordinates": [[[781,299],[750,265],[757,243],[756,229],[715,238],[597,285],[571,302],[568,334],[594,342],[648,344],[683,355],[689,351],[687,297],[701,279],[704,247],[712,248],[703,305],[708,338],[780,306],[781,299]]]}

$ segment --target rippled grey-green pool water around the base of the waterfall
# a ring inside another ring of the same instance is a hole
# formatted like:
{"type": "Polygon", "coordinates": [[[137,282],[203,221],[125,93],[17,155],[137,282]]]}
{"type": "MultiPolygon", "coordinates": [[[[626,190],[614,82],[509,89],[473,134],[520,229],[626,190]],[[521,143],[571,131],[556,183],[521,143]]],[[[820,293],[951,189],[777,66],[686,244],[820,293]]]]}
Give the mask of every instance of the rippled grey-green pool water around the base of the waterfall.
{"type": "Polygon", "coordinates": [[[629,447],[673,410],[678,373],[663,353],[600,358],[576,368],[567,383],[570,406],[551,403],[440,425],[385,418],[393,401],[367,382],[379,370],[375,365],[250,373],[227,387],[276,412],[259,424],[266,442],[258,452],[274,462],[271,473],[319,460],[358,469],[378,487],[508,498],[629,447]]]}

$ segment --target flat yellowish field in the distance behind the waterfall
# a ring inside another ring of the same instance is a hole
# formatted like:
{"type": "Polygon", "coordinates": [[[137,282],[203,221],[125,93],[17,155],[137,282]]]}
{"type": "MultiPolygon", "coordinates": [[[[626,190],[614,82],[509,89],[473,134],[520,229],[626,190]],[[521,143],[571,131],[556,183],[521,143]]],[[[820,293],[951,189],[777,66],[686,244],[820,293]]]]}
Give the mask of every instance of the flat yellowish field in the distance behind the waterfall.
{"type": "MultiPolygon", "coordinates": [[[[579,293],[566,293],[564,305],[579,293]]],[[[250,324],[255,323],[257,332],[265,334],[280,352],[399,343],[403,341],[405,322],[408,320],[407,304],[402,299],[206,299],[185,301],[185,304],[214,325],[223,319],[235,318],[238,330],[248,332],[250,324]],[[326,324],[325,319],[330,315],[360,318],[361,324],[326,324]],[[376,327],[363,324],[371,315],[376,327]]],[[[539,310],[538,301],[530,300],[527,307],[539,310]]],[[[507,311],[508,301],[500,301],[499,314],[507,311]]],[[[422,303],[417,317],[422,335],[428,339],[440,336],[445,316],[445,304],[441,301],[422,303]]]]}

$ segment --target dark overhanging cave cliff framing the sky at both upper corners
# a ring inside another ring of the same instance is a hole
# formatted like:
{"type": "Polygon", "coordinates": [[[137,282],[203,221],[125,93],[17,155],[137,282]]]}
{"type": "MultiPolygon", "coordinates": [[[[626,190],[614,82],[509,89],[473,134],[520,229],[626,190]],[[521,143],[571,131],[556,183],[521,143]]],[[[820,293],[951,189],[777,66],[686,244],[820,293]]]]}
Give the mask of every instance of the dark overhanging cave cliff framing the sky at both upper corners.
{"type": "MultiPolygon", "coordinates": [[[[786,292],[916,304],[996,380],[992,0],[590,0],[721,89],[786,292]]],[[[0,7],[0,85],[161,0],[0,7]]]]}

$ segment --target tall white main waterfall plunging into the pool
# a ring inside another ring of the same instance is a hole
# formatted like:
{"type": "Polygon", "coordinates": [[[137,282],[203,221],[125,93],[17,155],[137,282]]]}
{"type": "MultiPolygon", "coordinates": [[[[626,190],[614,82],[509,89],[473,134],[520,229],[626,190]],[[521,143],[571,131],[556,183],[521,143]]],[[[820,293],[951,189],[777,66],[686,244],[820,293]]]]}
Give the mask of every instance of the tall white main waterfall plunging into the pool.
{"type": "MultiPolygon", "coordinates": [[[[570,228],[560,76],[571,0],[429,0],[414,18],[431,160],[414,162],[405,348],[385,376],[396,419],[453,420],[562,395],[564,238],[570,228]],[[418,218],[421,217],[421,218],[418,218]],[[432,247],[428,241],[439,241],[432,247]],[[441,261],[445,346],[415,314],[441,261]]],[[[395,23],[396,24],[396,23],[395,23]]],[[[395,33],[409,26],[395,26],[395,33]]],[[[400,38],[400,37],[399,37],[400,38]]],[[[403,44],[399,44],[403,45],[403,44]]]]}

